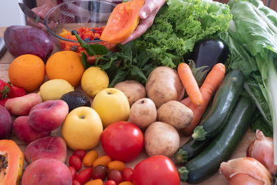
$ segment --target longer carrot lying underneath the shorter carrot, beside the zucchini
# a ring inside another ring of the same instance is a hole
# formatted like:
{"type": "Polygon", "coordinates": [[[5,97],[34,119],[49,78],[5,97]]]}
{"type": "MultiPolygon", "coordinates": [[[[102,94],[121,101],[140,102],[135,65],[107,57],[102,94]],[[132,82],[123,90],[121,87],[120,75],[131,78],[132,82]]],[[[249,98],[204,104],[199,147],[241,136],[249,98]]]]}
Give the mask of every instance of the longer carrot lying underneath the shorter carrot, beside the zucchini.
{"type": "Polygon", "coordinates": [[[208,73],[206,79],[204,80],[202,86],[200,87],[200,91],[203,97],[203,103],[200,106],[193,104],[190,97],[181,100],[181,103],[186,105],[186,107],[190,108],[193,111],[193,121],[185,127],[181,129],[181,134],[190,136],[193,134],[193,130],[199,124],[202,115],[204,114],[206,107],[208,106],[211,97],[220,86],[225,75],[225,66],[222,63],[217,63],[213,67],[213,69],[208,73]]]}

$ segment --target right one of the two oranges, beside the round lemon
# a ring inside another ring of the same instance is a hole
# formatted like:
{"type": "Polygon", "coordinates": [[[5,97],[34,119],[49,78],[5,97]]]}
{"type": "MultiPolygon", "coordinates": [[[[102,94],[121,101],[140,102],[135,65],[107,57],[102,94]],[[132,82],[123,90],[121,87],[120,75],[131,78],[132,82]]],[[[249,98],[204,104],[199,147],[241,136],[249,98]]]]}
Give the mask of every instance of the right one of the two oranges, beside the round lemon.
{"type": "Polygon", "coordinates": [[[74,51],[58,51],[46,62],[46,76],[49,80],[63,79],[73,87],[77,86],[84,73],[81,56],[74,51]]]}

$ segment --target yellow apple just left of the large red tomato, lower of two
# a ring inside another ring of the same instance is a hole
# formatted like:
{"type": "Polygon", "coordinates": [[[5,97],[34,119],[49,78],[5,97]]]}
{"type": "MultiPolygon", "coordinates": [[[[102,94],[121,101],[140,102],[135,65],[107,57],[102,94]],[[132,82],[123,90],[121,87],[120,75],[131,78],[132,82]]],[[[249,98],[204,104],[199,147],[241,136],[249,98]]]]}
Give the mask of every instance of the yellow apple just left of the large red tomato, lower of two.
{"type": "Polygon", "coordinates": [[[91,150],[100,142],[102,132],[100,116],[91,107],[73,109],[62,125],[62,136],[72,150],[91,150]]]}

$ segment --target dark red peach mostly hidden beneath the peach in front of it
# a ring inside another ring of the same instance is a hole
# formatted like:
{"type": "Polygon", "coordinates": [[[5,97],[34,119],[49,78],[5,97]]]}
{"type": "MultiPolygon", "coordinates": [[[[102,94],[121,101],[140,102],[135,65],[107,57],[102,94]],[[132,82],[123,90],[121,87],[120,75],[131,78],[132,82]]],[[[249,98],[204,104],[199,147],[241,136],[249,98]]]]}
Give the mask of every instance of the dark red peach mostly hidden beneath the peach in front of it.
{"type": "Polygon", "coordinates": [[[44,136],[50,136],[51,132],[39,132],[30,126],[29,116],[19,116],[13,121],[13,132],[24,143],[33,142],[44,136]]]}

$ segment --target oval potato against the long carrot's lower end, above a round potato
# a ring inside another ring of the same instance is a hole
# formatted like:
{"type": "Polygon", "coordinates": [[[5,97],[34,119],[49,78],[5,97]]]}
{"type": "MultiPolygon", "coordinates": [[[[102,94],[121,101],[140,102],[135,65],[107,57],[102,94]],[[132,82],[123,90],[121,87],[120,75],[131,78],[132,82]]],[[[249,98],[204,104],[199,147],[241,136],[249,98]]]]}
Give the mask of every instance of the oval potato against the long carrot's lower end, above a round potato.
{"type": "Polygon", "coordinates": [[[172,125],[176,129],[182,129],[193,121],[193,111],[179,101],[171,100],[159,107],[157,119],[172,125]]]}

